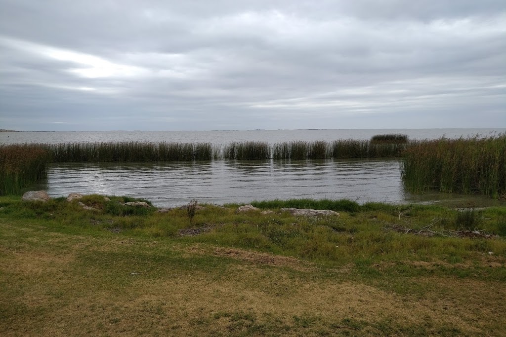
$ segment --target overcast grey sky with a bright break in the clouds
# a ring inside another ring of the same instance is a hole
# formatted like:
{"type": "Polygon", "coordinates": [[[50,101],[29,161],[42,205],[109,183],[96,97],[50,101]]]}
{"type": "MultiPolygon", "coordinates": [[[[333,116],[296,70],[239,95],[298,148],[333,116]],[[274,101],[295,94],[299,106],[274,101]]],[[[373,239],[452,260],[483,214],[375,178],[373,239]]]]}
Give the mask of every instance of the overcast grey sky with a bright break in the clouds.
{"type": "Polygon", "coordinates": [[[0,129],[506,127],[503,0],[0,0],[0,129]]]}

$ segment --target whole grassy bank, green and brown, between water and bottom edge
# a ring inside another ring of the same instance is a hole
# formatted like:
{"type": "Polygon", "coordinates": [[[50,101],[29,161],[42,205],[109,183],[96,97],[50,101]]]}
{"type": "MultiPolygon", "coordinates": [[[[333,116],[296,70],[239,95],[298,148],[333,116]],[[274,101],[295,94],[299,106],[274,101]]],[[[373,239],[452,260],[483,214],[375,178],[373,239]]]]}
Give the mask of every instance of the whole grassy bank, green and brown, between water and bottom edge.
{"type": "MultiPolygon", "coordinates": [[[[129,200],[0,198],[0,334],[506,334],[506,241],[454,234],[455,210],[267,201],[275,214],[206,206],[190,225],[129,200]],[[306,205],[341,216],[279,212],[306,205]]],[[[500,235],[505,216],[468,214],[500,235]]]]}

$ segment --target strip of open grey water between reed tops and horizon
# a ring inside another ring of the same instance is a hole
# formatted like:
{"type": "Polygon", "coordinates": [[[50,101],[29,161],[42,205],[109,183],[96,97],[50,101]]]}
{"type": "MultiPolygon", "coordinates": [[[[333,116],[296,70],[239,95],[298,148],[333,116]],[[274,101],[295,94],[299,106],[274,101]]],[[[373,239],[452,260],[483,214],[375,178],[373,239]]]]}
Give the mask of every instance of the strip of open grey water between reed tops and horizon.
{"type": "Polygon", "coordinates": [[[411,139],[455,138],[475,134],[506,132],[496,129],[342,129],[342,130],[255,130],[255,131],[76,131],[76,132],[0,132],[0,143],[60,143],[95,141],[178,141],[228,143],[258,140],[270,143],[291,140],[369,139],[379,133],[403,133],[411,139]]]}

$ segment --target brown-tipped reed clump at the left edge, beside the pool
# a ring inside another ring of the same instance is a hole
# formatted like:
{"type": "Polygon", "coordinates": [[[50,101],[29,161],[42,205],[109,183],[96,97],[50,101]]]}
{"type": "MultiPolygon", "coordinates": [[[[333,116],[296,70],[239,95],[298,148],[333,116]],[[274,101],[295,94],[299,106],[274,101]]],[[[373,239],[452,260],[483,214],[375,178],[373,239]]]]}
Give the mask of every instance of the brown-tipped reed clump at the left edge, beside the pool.
{"type": "Polygon", "coordinates": [[[17,194],[47,176],[48,154],[37,146],[0,146],[0,195],[17,194]]]}

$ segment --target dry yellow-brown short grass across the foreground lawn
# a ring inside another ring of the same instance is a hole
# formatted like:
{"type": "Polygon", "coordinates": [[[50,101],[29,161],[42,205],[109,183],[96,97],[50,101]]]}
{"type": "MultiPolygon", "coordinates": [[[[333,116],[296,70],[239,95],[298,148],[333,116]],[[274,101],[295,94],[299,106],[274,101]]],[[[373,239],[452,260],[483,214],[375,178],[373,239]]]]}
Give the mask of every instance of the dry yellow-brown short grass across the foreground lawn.
{"type": "MultiPolygon", "coordinates": [[[[342,335],[348,331],[366,336],[382,335],[375,324],[385,321],[399,326],[453,326],[464,335],[490,335],[491,326],[506,325],[506,289],[498,282],[422,277],[413,282],[431,291],[420,298],[356,280],[301,276],[316,269],[291,257],[190,246],[175,249],[185,251],[188,261],[210,255],[224,258],[224,263],[230,258],[241,263],[226,264],[226,275],[210,275],[198,268],[181,271],[156,263],[130,275],[131,268],[118,264],[124,276],[104,285],[107,270],[98,265],[83,267],[80,254],[115,253],[144,242],[130,238],[90,242],[72,236],[69,249],[55,249],[64,240],[63,234],[48,235],[27,239],[17,247],[2,247],[2,335],[240,335],[248,331],[248,324],[264,324],[273,335],[320,335],[322,331],[342,335]],[[37,244],[37,240],[38,245],[26,244],[37,244]],[[173,271],[169,276],[145,277],[160,268],[173,271]],[[306,317],[309,327],[294,323],[295,317],[306,317]],[[345,318],[371,324],[358,330],[331,327],[343,325],[345,318]]],[[[163,243],[146,246],[156,248],[163,243]]],[[[251,335],[265,332],[255,331],[251,335]]]]}

